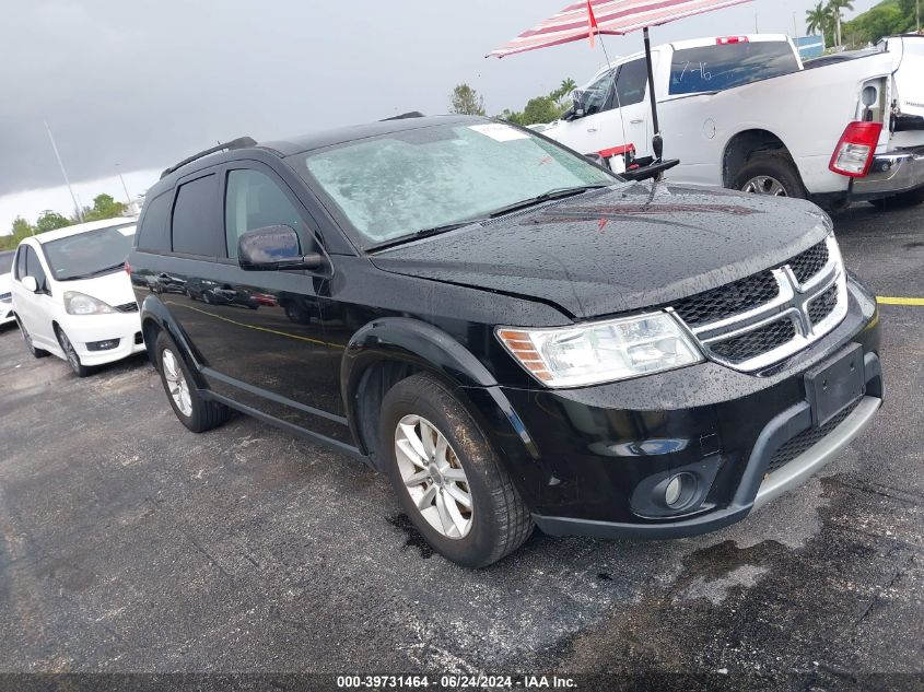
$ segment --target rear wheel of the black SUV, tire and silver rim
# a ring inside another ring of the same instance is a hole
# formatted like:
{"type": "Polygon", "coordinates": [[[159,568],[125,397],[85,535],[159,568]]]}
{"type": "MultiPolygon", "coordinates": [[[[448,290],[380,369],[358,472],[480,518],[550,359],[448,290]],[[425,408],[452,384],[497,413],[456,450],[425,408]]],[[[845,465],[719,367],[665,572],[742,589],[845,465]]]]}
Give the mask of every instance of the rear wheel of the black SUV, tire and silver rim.
{"type": "Polygon", "coordinates": [[[161,384],[167,395],[173,412],[179,422],[194,433],[204,433],[227,421],[230,411],[226,406],[206,400],[195,386],[192,373],[183,360],[179,349],[167,332],[161,331],[154,342],[157,372],[161,384]],[[166,366],[164,359],[166,356],[166,366]],[[177,379],[174,380],[173,376],[177,379]]]}

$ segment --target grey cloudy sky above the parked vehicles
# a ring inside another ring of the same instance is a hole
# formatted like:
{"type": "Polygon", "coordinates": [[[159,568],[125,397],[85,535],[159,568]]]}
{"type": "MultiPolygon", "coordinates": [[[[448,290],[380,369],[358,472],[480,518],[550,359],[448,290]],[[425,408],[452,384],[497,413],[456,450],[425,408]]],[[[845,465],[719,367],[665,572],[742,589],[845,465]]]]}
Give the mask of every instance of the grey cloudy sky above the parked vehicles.
{"type": "MultiPolygon", "coordinates": [[[[876,0],[856,0],[849,15],[876,0]]],[[[16,214],[71,212],[43,120],[83,203],[124,199],[217,140],[278,139],[406,110],[445,113],[467,81],[489,114],[522,109],[603,62],[587,44],[486,60],[568,0],[4,0],[0,233],[16,214]]],[[[756,0],[652,30],[655,44],[799,33],[809,0],[756,0]]],[[[610,57],[640,33],[607,37],[610,57]]]]}

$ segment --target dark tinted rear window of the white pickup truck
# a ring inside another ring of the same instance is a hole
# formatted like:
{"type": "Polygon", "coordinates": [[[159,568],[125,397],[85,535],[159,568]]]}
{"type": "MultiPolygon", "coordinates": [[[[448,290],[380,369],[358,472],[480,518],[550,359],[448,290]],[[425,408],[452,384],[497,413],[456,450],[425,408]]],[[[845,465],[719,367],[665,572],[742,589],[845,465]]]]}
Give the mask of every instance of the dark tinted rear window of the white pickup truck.
{"type": "Polygon", "coordinates": [[[790,44],[781,40],[685,48],[670,61],[668,93],[723,91],[798,69],[790,44]]]}

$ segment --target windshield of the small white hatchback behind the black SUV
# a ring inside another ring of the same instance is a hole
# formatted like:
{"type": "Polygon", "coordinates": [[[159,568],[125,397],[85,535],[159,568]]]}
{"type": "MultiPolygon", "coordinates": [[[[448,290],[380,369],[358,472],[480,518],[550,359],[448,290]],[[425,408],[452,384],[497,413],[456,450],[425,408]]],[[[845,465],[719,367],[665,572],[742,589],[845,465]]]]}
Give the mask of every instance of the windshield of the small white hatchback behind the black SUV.
{"type": "Polygon", "coordinates": [[[71,235],[42,245],[57,281],[90,279],[125,266],[134,237],[134,223],[71,235]]]}

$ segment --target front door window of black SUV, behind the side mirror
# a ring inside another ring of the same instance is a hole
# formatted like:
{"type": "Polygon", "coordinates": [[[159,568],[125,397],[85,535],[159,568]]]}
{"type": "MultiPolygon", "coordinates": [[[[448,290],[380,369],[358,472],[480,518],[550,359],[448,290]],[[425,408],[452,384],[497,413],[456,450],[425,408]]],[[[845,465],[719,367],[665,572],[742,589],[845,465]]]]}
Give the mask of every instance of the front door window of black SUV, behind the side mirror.
{"type": "Polygon", "coordinates": [[[302,222],[301,214],[272,178],[259,171],[231,171],[224,196],[227,256],[237,257],[237,238],[247,231],[277,225],[295,230],[302,241],[303,253],[313,249],[313,236],[302,222]]]}

